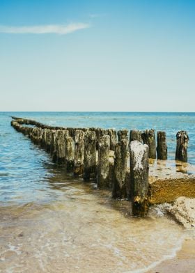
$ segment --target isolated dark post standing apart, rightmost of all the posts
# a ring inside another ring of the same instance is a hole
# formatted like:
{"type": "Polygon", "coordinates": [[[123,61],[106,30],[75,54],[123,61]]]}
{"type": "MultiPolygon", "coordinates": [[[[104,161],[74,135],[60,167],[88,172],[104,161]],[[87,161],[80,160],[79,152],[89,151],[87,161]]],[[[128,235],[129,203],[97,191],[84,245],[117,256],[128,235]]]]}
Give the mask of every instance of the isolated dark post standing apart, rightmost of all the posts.
{"type": "Polygon", "coordinates": [[[189,137],[186,131],[179,131],[176,134],[177,147],[176,147],[176,160],[187,162],[187,146],[189,137]]]}

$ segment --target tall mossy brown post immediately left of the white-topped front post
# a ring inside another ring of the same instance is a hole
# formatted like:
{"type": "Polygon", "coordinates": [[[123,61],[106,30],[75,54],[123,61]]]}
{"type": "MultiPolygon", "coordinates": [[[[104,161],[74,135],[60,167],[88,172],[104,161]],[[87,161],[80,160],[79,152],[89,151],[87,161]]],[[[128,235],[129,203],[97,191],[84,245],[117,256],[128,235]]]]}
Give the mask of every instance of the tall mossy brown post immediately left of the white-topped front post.
{"type": "Polygon", "coordinates": [[[114,158],[114,182],[112,189],[113,198],[127,198],[126,187],[127,173],[127,139],[116,143],[114,158]]]}

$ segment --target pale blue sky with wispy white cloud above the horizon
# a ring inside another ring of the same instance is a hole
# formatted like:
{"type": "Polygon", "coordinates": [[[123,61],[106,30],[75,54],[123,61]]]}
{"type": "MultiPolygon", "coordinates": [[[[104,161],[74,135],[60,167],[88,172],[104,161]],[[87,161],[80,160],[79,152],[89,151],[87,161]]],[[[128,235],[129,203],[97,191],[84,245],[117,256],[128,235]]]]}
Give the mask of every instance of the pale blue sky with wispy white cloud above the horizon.
{"type": "Polygon", "coordinates": [[[194,111],[194,0],[0,0],[0,111],[194,111]]]}

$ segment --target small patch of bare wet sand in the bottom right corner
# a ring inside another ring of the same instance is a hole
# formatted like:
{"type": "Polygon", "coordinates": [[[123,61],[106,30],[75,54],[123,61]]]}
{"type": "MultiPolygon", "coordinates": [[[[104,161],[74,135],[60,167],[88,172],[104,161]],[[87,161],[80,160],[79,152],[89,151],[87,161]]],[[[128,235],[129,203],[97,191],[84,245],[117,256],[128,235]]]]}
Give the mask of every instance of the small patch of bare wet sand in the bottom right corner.
{"type": "Polygon", "coordinates": [[[175,258],[164,260],[147,273],[194,273],[195,272],[195,239],[185,239],[182,249],[175,258]]]}

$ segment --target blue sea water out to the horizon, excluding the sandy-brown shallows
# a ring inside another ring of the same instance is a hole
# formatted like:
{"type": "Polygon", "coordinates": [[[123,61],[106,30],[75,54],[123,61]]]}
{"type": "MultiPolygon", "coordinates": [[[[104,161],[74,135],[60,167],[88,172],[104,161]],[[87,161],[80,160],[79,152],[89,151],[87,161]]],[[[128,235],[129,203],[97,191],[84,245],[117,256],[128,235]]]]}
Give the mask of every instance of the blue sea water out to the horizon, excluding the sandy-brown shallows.
{"type": "Polygon", "coordinates": [[[13,201],[48,201],[60,194],[53,191],[48,182],[56,172],[56,166],[52,164],[49,155],[10,127],[10,116],[64,127],[164,130],[169,159],[175,156],[176,132],[187,130],[188,161],[195,164],[195,113],[1,112],[0,201],[4,204],[13,201]]]}

